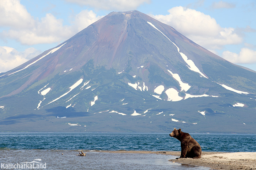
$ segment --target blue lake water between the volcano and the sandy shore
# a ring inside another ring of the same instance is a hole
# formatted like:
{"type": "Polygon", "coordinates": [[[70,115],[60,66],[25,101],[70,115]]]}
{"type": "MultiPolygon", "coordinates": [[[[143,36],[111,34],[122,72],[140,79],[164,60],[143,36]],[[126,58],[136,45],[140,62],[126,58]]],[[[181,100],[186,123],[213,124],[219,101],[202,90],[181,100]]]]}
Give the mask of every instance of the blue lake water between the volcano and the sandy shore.
{"type": "MultiPolygon", "coordinates": [[[[256,152],[256,135],[191,134],[203,151],[256,152]]],[[[0,163],[46,163],[46,169],[208,169],[169,162],[172,155],[102,153],[98,150],[180,151],[169,134],[0,133],[0,163]],[[78,150],[87,151],[78,157],[78,150]],[[63,154],[63,155],[62,155],[63,154]]],[[[3,169],[3,168],[2,168],[3,169]]],[[[22,169],[22,168],[20,168],[22,169]]]]}

